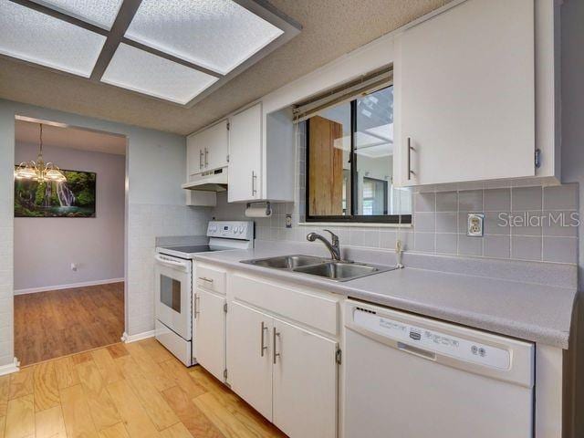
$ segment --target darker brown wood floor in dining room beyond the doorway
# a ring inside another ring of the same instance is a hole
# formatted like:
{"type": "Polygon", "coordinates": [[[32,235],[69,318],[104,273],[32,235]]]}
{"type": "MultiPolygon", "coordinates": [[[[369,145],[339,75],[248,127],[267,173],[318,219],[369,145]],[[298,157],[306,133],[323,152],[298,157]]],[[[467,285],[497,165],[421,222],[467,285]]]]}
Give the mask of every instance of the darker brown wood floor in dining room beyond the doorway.
{"type": "Polygon", "coordinates": [[[123,282],[15,296],[23,366],[120,342],[123,331],[123,282]]]}

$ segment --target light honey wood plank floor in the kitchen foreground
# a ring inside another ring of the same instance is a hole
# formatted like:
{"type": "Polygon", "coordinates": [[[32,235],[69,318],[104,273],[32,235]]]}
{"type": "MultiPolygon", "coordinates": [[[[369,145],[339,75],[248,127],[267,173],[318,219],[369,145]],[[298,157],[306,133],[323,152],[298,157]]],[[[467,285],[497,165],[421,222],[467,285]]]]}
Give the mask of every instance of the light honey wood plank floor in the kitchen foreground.
{"type": "Polygon", "coordinates": [[[0,377],[0,438],[285,437],[199,366],[155,339],[0,377]]]}

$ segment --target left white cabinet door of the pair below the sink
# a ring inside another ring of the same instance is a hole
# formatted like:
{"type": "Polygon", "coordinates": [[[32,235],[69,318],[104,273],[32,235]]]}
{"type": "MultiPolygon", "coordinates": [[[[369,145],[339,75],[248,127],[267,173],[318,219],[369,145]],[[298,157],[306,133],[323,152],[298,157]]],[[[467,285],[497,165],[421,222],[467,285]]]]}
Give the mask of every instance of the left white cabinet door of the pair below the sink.
{"type": "Polygon", "coordinates": [[[273,319],[239,303],[227,319],[228,381],[231,389],[272,421],[273,319]]]}

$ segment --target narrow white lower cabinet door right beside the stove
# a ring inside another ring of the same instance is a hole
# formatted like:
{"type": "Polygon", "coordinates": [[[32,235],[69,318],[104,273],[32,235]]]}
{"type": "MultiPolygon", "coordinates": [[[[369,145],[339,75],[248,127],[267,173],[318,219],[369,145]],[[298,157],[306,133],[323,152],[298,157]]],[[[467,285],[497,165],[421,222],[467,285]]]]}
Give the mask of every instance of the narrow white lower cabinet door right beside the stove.
{"type": "Polygon", "coordinates": [[[225,298],[197,288],[195,297],[196,361],[220,381],[225,370],[225,298]]]}

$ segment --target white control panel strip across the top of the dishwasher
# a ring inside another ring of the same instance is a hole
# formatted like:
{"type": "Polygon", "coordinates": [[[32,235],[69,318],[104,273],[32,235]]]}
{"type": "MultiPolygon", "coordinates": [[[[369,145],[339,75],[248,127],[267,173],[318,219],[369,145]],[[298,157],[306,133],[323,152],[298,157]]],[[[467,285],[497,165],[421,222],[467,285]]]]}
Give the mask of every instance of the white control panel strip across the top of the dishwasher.
{"type": "Polygon", "coordinates": [[[499,370],[508,370],[511,366],[511,357],[507,349],[500,349],[473,339],[464,339],[434,329],[413,326],[396,319],[382,317],[370,310],[355,308],[353,322],[358,327],[366,328],[384,337],[395,339],[430,353],[439,353],[457,360],[480,363],[499,370]]]}

